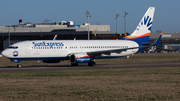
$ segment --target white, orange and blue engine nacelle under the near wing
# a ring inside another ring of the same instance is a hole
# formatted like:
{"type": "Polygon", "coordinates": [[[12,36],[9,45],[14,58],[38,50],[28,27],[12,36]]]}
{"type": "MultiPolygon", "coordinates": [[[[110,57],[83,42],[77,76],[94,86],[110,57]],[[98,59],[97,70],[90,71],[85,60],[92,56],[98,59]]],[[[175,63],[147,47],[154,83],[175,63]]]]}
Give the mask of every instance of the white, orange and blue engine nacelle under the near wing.
{"type": "Polygon", "coordinates": [[[71,63],[89,63],[90,60],[89,55],[86,53],[72,54],[70,56],[71,63]]]}

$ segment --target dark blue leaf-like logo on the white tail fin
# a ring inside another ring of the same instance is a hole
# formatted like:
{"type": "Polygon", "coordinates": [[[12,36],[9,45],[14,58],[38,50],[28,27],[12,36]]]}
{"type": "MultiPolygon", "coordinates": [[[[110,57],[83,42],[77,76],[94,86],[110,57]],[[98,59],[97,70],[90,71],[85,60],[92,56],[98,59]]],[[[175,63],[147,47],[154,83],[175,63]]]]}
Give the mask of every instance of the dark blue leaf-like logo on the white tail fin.
{"type": "Polygon", "coordinates": [[[144,16],[144,19],[142,19],[142,21],[139,23],[139,25],[137,26],[136,30],[139,30],[139,28],[141,26],[147,26],[148,30],[151,31],[151,25],[152,25],[152,21],[151,21],[151,18],[149,16],[144,16]]]}

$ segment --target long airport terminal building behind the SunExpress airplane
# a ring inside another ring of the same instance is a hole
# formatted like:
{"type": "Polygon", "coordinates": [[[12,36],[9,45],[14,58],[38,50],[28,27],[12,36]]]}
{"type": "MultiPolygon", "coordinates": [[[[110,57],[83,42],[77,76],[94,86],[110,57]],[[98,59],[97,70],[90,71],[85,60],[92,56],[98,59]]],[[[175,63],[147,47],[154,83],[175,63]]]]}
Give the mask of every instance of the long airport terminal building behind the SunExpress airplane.
{"type": "MultiPolygon", "coordinates": [[[[25,40],[52,40],[58,35],[57,40],[87,40],[88,26],[91,40],[116,40],[124,34],[110,31],[110,25],[73,25],[72,22],[61,23],[23,24],[17,26],[0,26],[0,51],[9,44],[25,40]],[[10,39],[10,40],[9,40],[10,39]]],[[[150,41],[155,41],[160,33],[151,33],[150,41]]],[[[164,33],[160,44],[150,49],[153,52],[168,50],[167,45],[179,45],[180,33],[164,33]]],[[[149,50],[146,50],[149,51],[149,50]]]]}

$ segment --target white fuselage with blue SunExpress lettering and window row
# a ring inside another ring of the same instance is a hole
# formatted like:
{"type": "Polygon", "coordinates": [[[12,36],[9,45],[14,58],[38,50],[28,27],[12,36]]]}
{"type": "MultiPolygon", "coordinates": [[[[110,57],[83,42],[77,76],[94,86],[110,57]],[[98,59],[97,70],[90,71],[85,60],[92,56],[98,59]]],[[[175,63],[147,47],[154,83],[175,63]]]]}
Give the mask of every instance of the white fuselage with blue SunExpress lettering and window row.
{"type": "MultiPolygon", "coordinates": [[[[66,59],[69,54],[115,50],[139,47],[134,41],[127,40],[38,40],[22,41],[11,45],[2,52],[10,59],[66,59]],[[13,48],[15,47],[15,48],[13,48]]],[[[136,53],[136,49],[101,54],[100,57],[120,57],[136,53]]],[[[98,58],[100,58],[98,57],[98,58]]]]}

